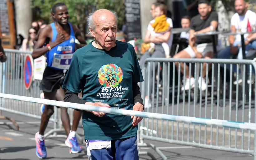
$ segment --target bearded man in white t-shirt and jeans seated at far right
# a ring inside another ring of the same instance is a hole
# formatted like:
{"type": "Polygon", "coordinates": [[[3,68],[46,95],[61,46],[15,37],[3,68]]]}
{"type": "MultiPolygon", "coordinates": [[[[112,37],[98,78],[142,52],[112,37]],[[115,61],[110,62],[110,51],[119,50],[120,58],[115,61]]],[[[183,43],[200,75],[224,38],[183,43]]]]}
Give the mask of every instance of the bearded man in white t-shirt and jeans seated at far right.
{"type": "MultiPolygon", "coordinates": [[[[247,9],[247,3],[244,0],[235,1],[235,10],[236,13],[231,18],[231,32],[247,32],[248,21],[251,28],[255,27],[256,14],[247,9]]],[[[230,35],[229,44],[230,46],[227,46],[225,49],[221,50],[217,57],[231,58],[239,52],[238,57],[239,59],[242,59],[242,53],[239,51],[239,48],[241,48],[241,35],[230,35]]],[[[244,44],[246,51],[256,49],[256,40],[253,37],[253,34],[244,34],[244,44]]]]}

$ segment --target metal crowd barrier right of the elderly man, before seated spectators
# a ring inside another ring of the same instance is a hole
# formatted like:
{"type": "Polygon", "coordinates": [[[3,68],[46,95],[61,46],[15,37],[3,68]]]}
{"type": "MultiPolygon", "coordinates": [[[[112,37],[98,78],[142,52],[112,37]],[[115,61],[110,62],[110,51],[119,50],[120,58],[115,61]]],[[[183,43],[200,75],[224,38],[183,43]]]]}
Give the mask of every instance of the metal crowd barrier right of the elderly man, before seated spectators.
{"type": "MultiPolygon", "coordinates": [[[[142,68],[144,82],[141,92],[143,99],[145,95],[149,96],[152,107],[145,108],[145,111],[254,125],[255,69],[256,62],[252,60],[148,58],[142,68]],[[207,88],[203,91],[199,89],[197,82],[198,77],[203,74],[204,63],[207,88]],[[184,69],[183,72],[189,72],[189,77],[195,78],[194,88],[181,90],[185,82],[185,77],[180,72],[181,64],[188,66],[188,70],[184,69]],[[155,68],[152,76],[149,74],[150,67],[155,68]],[[235,83],[239,81],[239,77],[242,82],[235,83]],[[153,81],[151,84],[150,79],[153,81]]],[[[170,122],[155,118],[145,118],[140,125],[141,143],[144,139],[150,139],[247,153],[254,155],[254,160],[256,159],[255,132],[250,129],[185,121],[170,122]]]]}

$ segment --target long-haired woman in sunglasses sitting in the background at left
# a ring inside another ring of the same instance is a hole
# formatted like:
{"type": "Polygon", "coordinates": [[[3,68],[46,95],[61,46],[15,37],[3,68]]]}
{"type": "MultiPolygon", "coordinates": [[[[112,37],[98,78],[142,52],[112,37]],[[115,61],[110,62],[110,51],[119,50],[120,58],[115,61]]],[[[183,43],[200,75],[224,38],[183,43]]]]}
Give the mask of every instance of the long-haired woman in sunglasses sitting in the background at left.
{"type": "Polygon", "coordinates": [[[34,28],[29,28],[28,30],[28,38],[22,41],[22,51],[33,51],[34,42],[33,39],[36,36],[36,30],[34,28]]]}

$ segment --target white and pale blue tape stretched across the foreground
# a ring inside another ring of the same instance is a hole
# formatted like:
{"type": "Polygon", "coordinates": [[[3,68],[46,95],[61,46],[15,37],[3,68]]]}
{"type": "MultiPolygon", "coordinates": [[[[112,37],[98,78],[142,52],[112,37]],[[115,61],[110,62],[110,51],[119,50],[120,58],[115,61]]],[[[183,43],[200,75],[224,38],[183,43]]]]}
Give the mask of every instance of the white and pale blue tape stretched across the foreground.
{"type": "Polygon", "coordinates": [[[154,119],[160,119],[160,120],[186,122],[186,123],[192,123],[192,124],[216,125],[219,127],[249,129],[254,131],[256,130],[255,123],[235,122],[235,121],[227,121],[227,120],[221,120],[221,119],[205,119],[205,118],[177,116],[177,115],[169,115],[169,114],[150,113],[150,112],[140,112],[140,111],[126,110],[126,109],[113,109],[113,108],[107,108],[107,107],[98,107],[98,106],[92,106],[92,105],[76,104],[76,103],[70,103],[70,102],[25,97],[25,96],[19,96],[19,95],[10,95],[10,94],[4,94],[4,93],[0,93],[0,98],[14,99],[14,100],[34,102],[34,103],[40,103],[40,104],[48,104],[53,106],[81,109],[86,111],[97,111],[97,112],[104,112],[104,113],[110,113],[110,114],[154,118],[154,119]]]}

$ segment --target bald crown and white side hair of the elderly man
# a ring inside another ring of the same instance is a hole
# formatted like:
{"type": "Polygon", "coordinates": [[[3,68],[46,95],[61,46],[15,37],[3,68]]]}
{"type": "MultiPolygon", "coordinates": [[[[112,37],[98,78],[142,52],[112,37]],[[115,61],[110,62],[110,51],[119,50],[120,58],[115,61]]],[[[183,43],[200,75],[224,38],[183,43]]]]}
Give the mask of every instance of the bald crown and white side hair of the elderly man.
{"type": "Polygon", "coordinates": [[[95,12],[91,12],[87,17],[88,27],[95,31],[96,25],[99,25],[99,22],[101,22],[102,20],[106,20],[107,18],[113,17],[115,18],[117,25],[118,18],[116,12],[107,9],[99,9],[95,12]]]}

